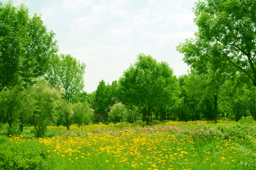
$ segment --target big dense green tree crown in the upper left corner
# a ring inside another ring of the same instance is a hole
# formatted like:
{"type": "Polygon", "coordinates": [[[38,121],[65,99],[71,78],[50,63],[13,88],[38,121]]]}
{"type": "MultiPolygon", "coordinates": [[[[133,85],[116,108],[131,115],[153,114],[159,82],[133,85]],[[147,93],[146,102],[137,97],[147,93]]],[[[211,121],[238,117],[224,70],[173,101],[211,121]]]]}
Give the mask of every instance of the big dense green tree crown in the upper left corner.
{"type": "Polygon", "coordinates": [[[54,35],[41,16],[31,18],[23,4],[0,2],[0,92],[46,73],[50,57],[58,51],[54,35]]]}

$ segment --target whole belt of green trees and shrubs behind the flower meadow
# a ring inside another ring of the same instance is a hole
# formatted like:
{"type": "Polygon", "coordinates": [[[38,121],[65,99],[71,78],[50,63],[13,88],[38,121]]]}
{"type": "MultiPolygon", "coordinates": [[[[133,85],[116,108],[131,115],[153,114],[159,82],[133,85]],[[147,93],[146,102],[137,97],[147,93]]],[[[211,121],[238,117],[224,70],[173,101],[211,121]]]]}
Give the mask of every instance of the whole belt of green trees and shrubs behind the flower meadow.
{"type": "MultiPolygon", "coordinates": [[[[88,94],[85,63],[58,55],[55,33],[21,4],[0,2],[0,128],[154,121],[256,120],[256,1],[199,1],[195,38],[177,45],[188,74],[141,53],[119,80],[88,94]]],[[[170,56],[171,57],[171,56],[170,56]]]]}

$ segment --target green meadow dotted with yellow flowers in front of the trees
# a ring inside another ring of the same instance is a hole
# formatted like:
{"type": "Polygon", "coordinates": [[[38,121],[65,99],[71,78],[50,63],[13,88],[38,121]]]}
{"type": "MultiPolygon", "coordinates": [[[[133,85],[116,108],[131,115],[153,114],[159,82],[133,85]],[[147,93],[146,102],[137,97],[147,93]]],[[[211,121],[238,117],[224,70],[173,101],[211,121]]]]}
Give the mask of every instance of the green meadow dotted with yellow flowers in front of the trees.
{"type": "Polygon", "coordinates": [[[0,169],[256,169],[256,123],[229,120],[33,128],[1,137],[0,169]]]}

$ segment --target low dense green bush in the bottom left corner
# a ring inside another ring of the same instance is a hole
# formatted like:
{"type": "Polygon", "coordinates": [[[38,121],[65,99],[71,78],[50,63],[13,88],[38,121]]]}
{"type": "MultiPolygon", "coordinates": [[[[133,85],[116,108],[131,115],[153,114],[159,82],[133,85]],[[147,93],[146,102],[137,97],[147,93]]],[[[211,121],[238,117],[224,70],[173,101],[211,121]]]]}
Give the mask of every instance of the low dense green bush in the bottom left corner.
{"type": "Polygon", "coordinates": [[[0,169],[49,169],[46,145],[36,141],[0,144],[0,169]]]}

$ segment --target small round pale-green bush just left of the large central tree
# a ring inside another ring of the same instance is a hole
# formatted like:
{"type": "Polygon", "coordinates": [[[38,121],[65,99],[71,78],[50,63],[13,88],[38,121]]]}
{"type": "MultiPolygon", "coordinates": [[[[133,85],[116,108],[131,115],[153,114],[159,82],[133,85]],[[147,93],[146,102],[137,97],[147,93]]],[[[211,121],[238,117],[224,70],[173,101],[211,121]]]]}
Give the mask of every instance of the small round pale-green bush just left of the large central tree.
{"type": "Polygon", "coordinates": [[[125,122],[127,120],[127,109],[123,103],[115,103],[108,113],[110,120],[114,122],[125,122]]]}

